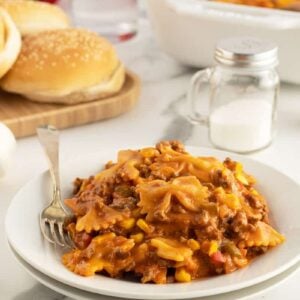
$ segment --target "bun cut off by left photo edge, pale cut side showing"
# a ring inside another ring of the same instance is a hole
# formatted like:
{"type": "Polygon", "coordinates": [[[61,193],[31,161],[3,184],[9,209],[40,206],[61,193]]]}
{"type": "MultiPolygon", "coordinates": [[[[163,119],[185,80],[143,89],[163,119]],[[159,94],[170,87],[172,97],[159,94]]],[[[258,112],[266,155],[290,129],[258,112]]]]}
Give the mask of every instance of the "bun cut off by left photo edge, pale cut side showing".
{"type": "Polygon", "coordinates": [[[0,7],[0,78],[15,63],[20,50],[20,33],[9,14],[0,7]]]}

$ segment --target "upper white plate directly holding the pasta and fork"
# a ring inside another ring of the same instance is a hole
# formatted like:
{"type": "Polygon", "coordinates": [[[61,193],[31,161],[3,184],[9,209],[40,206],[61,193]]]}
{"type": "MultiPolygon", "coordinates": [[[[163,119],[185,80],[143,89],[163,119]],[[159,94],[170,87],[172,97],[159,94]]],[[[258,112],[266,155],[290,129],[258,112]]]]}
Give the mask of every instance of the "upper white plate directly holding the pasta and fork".
{"type": "MultiPolygon", "coordinates": [[[[188,150],[194,155],[227,156],[241,161],[246,171],[256,176],[259,190],[266,196],[275,227],[286,236],[286,242],[260,256],[247,268],[225,276],[217,276],[188,284],[140,284],[97,275],[80,277],[60,262],[59,251],[44,242],[38,216],[50,198],[50,178],[43,173],[25,185],[13,199],[6,216],[6,233],[15,251],[35,269],[64,284],[115,297],[135,299],[186,299],[226,293],[270,279],[300,260],[300,187],[287,176],[262,163],[242,156],[205,148],[188,150]]],[[[103,163],[115,159],[117,150],[83,155],[62,166],[62,189],[66,196],[76,177],[94,174],[103,163]]]]}

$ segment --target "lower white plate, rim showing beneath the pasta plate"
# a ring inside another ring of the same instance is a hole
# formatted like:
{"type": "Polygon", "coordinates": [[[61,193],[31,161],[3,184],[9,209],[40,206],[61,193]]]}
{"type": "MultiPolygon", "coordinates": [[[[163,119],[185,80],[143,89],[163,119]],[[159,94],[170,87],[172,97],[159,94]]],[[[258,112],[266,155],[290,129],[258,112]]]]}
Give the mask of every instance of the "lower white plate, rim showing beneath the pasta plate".
{"type": "MultiPolygon", "coordinates": [[[[10,246],[11,247],[11,246],[10,246]]],[[[71,297],[75,300],[122,300],[122,298],[112,298],[109,296],[103,296],[99,294],[94,294],[86,291],[70,287],[63,284],[57,280],[54,280],[47,275],[39,272],[29,265],[25,260],[23,260],[11,247],[11,250],[16,258],[16,260],[25,268],[25,270],[41,284],[53,289],[54,291],[61,293],[65,296],[71,297]]],[[[285,282],[290,276],[292,276],[300,267],[300,263],[297,263],[293,267],[289,268],[287,271],[275,276],[272,279],[266,280],[263,283],[256,284],[254,286],[244,288],[235,292],[229,292],[225,294],[218,295],[218,300],[232,300],[232,299],[248,299],[249,297],[259,296],[261,293],[267,292],[269,289],[273,289],[275,286],[285,282]]],[[[215,296],[207,296],[201,298],[201,300],[213,300],[216,299],[215,296]]]]}

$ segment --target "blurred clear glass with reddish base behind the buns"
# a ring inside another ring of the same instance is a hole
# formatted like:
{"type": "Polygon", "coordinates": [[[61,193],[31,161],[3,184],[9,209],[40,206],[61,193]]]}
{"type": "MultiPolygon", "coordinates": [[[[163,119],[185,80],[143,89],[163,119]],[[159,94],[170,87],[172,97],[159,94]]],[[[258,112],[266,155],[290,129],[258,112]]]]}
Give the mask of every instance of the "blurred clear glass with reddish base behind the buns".
{"type": "Polygon", "coordinates": [[[78,27],[89,28],[112,42],[126,41],[137,33],[137,0],[73,0],[72,16],[78,27]]]}

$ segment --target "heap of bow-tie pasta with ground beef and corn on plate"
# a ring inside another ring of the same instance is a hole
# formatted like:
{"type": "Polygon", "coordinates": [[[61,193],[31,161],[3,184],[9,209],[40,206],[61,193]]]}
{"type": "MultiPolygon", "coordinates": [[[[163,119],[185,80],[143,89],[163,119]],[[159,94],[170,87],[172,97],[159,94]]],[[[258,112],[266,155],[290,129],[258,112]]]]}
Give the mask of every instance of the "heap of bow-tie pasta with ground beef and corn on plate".
{"type": "Polygon", "coordinates": [[[284,241],[254,186],[240,163],[192,156],[177,141],[119,151],[116,163],[75,180],[65,204],[76,249],[62,262],[82,276],[143,283],[231,273],[284,241]]]}

